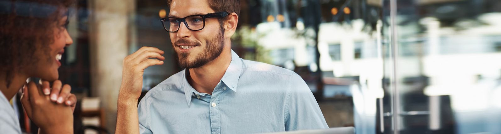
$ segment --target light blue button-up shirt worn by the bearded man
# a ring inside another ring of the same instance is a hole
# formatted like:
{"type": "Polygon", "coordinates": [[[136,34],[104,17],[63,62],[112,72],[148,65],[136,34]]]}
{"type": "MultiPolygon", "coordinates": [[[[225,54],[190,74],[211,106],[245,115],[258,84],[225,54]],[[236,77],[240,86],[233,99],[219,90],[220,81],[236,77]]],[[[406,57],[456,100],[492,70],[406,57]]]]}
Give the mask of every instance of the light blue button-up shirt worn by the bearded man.
{"type": "Polygon", "coordinates": [[[244,60],[231,62],[212,95],[178,72],[151,89],[138,107],[141,134],[243,134],[327,129],[312,92],[295,72],[244,60]]]}

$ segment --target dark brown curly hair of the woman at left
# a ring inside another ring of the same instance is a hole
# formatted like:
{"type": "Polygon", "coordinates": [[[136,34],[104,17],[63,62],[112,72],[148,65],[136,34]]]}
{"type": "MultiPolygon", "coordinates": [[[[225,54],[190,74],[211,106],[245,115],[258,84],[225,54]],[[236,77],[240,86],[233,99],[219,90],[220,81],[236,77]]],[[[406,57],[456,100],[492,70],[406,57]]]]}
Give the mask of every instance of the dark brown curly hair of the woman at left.
{"type": "Polygon", "coordinates": [[[14,73],[49,53],[54,28],[67,16],[73,0],[0,0],[0,73],[7,87],[14,73]]]}

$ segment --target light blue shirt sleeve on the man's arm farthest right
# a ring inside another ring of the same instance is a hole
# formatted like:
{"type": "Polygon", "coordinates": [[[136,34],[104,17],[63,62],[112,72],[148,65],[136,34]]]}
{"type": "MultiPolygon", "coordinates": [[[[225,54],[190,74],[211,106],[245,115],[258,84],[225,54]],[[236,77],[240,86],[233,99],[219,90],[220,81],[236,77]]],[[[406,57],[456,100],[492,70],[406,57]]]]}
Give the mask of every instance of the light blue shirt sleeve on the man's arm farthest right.
{"type": "Polygon", "coordinates": [[[329,128],[312,91],[296,73],[290,80],[285,115],[286,131],[329,128]]]}

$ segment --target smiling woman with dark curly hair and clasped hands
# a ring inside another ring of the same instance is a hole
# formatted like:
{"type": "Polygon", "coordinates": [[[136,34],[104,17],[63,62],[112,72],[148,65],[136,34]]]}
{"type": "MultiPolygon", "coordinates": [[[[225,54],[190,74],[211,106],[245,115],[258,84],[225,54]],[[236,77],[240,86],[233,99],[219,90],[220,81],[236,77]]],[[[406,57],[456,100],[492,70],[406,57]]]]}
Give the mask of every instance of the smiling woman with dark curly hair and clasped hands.
{"type": "Polygon", "coordinates": [[[20,89],[23,107],[39,132],[73,133],[76,98],[70,86],[58,80],[61,55],[73,43],[65,27],[72,4],[72,0],[0,0],[0,133],[21,134],[9,104],[20,89]],[[26,83],[31,77],[44,81],[26,83]]]}

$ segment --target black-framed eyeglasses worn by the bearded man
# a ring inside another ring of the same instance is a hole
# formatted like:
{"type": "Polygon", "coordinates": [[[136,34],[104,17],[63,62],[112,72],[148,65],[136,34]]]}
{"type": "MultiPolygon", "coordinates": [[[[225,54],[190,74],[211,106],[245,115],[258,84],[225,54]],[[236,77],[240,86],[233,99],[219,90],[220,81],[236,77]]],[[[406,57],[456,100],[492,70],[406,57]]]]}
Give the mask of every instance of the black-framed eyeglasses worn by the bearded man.
{"type": "Polygon", "coordinates": [[[164,17],[160,19],[162,22],[163,28],[168,32],[177,32],[181,25],[181,22],[186,25],[186,27],[193,31],[202,30],[205,27],[205,19],[212,17],[225,17],[229,14],[229,12],[214,12],[205,15],[196,14],[190,15],[184,18],[176,18],[176,17],[164,17]]]}

